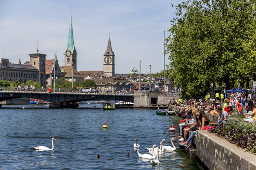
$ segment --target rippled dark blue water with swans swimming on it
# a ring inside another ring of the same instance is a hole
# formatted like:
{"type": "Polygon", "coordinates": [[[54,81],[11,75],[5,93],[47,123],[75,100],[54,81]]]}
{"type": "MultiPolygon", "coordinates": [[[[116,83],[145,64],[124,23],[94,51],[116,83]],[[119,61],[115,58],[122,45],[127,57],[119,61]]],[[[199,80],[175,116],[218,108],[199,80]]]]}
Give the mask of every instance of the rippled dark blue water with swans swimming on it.
{"type": "Polygon", "coordinates": [[[104,111],[101,104],[80,104],[77,109],[47,107],[0,108],[0,169],[200,169],[178,148],[177,140],[173,140],[177,149],[165,152],[156,166],[139,159],[133,148],[136,137],[139,153],[148,153],[145,147],[159,146],[162,139],[171,146],[174,133],[169,129],[174,123],[178,133],[179,117],[153,115],[151,109],[104,111]],[[107,129],[103,129],[105,122],[107,129]],[[52,148],[52,137],[57,139],[53,152],[34,150],[33,146],[52,148]],[[128,152],[130,157],[124,156],[128,152]]]}

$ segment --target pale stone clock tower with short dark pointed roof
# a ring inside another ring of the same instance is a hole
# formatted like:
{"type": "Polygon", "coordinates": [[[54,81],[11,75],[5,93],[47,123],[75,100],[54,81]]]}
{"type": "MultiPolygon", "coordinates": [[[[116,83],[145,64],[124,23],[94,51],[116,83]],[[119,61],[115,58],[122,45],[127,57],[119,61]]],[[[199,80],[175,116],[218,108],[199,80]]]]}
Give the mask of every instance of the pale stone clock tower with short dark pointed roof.
{"type": "Polygon", "coordinates": [[[108,38],[108,47],[104,53],[104,65],[103,65],[104,77],[114,76],[114,52],[111,47],[110,37],[108,38]]]}

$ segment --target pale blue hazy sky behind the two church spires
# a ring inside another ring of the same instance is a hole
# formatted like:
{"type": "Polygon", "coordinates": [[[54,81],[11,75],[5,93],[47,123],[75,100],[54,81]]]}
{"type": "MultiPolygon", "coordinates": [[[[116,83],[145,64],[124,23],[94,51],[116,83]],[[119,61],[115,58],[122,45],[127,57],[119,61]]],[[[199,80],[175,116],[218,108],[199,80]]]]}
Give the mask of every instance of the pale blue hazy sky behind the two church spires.
{"type": "MultiPolygon", "coordinates": [[[[87,0],[87,1],[0,1],[0,57],[13,63],[29,61],[37,49],[61,65],[67,49],[70,4],[74,44],[78,52],[77,69],[103,70],[109,30],[116,73],[130,73],[133,67],[151,73],[163,70],[163,31],[165,37],[182,1],[171,0],[87,0]]],[[[165,55],[168,63],[168,55],[165,55]]]]}

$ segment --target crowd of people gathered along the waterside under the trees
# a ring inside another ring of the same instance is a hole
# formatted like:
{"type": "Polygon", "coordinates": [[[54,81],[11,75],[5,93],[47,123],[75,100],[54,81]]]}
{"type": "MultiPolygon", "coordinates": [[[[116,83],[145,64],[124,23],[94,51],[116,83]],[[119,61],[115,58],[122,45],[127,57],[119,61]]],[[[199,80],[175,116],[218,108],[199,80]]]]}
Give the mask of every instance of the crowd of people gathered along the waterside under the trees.
{"type": "Polygon", "coordinates": [[[180,138],[180,145],[187,146],[186,149],[193,148],[192,143],[196,131],[209,130],[213,127],[210,125],[210,120],[206,115],[207,112],[212,115],[219,115],[217,121],[219,126],[229,121],[229,116],[232,114],[243,114],[246,116],[246,119],[244,119],[246,122],[256,122],[256,102],[252,100],[250,95],[229,94],[228,97],[233,98],[233,100],[225,98],[222,104],[221,99],[216,96],[210,100],[211,104],[198,102],[195,99],[169,101],[169,104],[175,106],[176,111],[186,118],[180,121],[179,124],[180,134],[177,137],[180,138]],[[246,98],[247,100],[245,100],[246,98]],[[243,100],[245,100],[245,103],[243,103],[243,100]],[[233,105],[232,101],[236,102],[236,105],[233,105]],[[237,112],[234,110],[237,110],[237,112]]]}

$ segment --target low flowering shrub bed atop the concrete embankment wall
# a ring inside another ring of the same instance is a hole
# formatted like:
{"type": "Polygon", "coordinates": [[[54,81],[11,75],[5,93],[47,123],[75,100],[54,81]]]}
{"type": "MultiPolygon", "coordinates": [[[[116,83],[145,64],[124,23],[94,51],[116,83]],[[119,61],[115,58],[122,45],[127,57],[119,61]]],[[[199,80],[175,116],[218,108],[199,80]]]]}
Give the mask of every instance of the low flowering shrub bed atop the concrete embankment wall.
{"type": "Polygon", "coordinates": [[[210,133],[225,138],[240,148],[246,148],[256,154],[256,125],[242,121],[241,118],[233,119],[221,126],[214,126],[210,133]]]}

